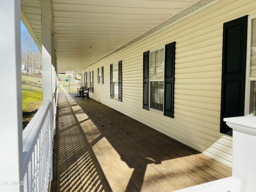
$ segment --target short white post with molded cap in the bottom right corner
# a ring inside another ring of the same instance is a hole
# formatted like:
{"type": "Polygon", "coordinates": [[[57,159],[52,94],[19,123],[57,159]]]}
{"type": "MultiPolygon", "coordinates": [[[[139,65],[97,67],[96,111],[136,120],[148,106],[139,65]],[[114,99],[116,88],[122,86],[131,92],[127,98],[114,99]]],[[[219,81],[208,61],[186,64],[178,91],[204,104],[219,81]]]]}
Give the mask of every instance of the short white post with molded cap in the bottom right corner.
{"type": "Polygon", "coordinates": [[[256,192],[256,117],[224,121],[233,129],[232,176],[241,180],[241,192],[256,192]]]}

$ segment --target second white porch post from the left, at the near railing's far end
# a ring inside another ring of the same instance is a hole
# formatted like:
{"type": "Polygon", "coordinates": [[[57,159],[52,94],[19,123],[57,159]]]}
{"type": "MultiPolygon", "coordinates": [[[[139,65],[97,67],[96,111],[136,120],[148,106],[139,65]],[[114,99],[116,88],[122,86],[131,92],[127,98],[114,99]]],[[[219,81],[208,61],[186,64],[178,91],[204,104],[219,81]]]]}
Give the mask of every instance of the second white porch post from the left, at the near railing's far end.
{"type": "MultiPolygon", "coordinates": [[[[50,138],[52,138],[52,47],[51,47],[51,2],[42,1],[42,67],[43,67],[43,98],[51,101],[50,107],[50,138]]],[[[52,180],[52,140],[50,139],[50,180],[52,180]]]]}

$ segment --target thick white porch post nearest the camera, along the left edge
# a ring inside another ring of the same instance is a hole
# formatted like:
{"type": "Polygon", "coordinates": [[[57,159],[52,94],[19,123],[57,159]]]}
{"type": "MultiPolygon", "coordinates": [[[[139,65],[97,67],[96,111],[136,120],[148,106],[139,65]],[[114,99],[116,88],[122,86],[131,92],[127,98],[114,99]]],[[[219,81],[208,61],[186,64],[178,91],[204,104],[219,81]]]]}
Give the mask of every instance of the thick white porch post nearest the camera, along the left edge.
{"type": "Polygon", "coordinates": [[[23,192],[20,0],[0,1],[0,191],[23,192]]]}

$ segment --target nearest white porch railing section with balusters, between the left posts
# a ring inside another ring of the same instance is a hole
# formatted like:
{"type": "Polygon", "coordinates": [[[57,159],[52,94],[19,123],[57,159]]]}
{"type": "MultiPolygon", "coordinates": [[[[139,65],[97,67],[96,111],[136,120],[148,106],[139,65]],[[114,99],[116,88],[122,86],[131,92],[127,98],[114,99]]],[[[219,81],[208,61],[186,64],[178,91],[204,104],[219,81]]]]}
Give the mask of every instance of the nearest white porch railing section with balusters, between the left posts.
{"type": "Polygon", "coordinates": [[[44,101],[23,131],[24,192],[48,192],[57,95],[53,95],[52,102],[44,101]]]}

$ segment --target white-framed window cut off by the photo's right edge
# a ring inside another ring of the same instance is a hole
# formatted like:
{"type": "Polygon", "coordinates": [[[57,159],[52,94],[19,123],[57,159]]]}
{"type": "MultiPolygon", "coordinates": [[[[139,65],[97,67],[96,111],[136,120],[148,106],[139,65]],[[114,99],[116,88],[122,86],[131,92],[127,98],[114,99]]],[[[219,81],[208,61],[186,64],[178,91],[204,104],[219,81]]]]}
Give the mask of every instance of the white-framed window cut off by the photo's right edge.
{"type": "Polygon", "coordinates": [[[256,15],[248,17],[245,115],[256,116],[256,15]]]}

